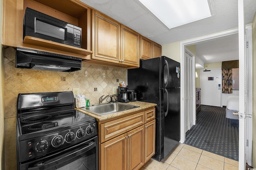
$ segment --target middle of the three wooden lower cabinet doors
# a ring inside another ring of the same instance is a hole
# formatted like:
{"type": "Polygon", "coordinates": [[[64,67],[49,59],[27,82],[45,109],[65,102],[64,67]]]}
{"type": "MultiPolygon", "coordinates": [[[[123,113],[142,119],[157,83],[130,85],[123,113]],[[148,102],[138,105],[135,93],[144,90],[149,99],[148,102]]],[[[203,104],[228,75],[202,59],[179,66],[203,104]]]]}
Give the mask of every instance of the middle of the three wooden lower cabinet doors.
{"type": "Polygon", "coordinates": [[[139,169],[144,164],[144,125],[128,133],[128,170],[139,169]]]}

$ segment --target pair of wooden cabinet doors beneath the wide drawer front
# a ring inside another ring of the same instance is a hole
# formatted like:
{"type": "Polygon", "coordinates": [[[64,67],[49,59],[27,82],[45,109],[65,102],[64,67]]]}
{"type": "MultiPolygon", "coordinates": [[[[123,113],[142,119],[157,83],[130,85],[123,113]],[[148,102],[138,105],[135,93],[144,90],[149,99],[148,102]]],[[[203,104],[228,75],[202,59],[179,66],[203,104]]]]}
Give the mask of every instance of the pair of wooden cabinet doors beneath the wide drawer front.
{"type": "Polygon", "coordinates": [[[144,164],[144,125],[100,145],[102,170],[134,170],[144,164]]]}

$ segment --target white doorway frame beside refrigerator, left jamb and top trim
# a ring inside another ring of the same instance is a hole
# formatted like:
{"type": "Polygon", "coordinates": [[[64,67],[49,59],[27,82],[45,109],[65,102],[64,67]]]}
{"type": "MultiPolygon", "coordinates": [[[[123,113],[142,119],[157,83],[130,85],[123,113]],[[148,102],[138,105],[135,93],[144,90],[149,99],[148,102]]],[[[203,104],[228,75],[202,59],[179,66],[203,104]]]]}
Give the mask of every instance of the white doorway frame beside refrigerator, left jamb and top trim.
{"type": "MultiPolygon", "coordinates": [[[[181,41],[180,42],[180,72],[184,73],[184,68],[185,68],[185,50],[186,50],[186,46],[188,45],[194,45],[197,43],[201,43],[203,41],[208,41],[211,39],[215,39],[215,38],[219,38],[219,37],[224,37],[227,35],[232,35],[238,33],[238,29],[232,29],[229,31],[224,31],[224,32],[220,32],[220,33],[216,33],[216,34],[212,34],[212,35],[207,35],[204,37],[198,37],[198,38],[194,38],[194,39],[189,39],[186,41],[181,41]]],[[[195,74],[195,72],[193,72],[193,74],[195,74]]],[[[195,77],[195,75],[194,75],[195,77]]],[[[184,91],[184,87],[185,87],[185,76],[184,74],[180,74],[180,143],[184,143],[185,139],[186,139],[186,122],[185,122],[185,113],[184,113],[184,107],[185,107],[185,91],[184,91]]],[[[193,86],[196,86],[196,82],[193,82],[193,86]]],[[[196,89],[195,89],[196,90],[196,89]]],[[[194,113],[193,118],[196,117],[196,113],[194,113]]],[[[195,121],[195,120],[193,120],[195,121]]]]}

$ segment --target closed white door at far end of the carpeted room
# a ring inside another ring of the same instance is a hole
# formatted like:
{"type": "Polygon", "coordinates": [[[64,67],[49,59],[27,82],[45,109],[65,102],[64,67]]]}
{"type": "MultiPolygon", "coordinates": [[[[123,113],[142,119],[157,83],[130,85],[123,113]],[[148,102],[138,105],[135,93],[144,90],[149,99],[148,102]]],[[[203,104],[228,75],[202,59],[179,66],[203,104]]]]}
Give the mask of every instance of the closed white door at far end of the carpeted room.
{"type": "Polygon", "coordinates": [[[221,69],[201,70],[201,105],[221,106],[221,69]]]}

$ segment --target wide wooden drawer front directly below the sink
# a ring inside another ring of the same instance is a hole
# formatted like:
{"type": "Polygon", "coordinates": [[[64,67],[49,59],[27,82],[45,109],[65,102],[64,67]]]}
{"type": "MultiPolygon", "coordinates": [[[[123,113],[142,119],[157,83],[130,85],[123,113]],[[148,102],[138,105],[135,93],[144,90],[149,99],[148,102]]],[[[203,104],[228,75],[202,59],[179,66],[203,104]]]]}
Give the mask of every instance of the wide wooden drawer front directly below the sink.
{"type": "Polygon", "coordinates": [[[144,124],[144,111],[100,125],[100,143],[144,124]]]}

